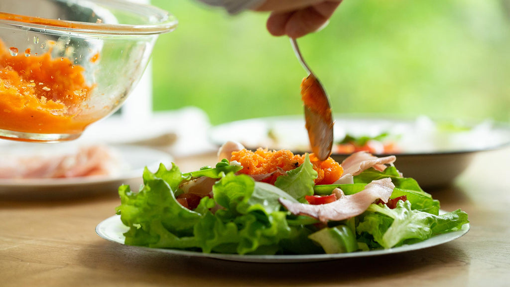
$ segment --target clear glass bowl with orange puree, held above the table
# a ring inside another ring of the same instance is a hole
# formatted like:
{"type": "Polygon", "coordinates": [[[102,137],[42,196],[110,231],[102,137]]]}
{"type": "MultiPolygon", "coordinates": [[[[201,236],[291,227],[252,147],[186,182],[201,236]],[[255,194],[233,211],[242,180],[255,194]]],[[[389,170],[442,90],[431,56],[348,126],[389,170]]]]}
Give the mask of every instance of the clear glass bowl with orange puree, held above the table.
{"type": "Polygon", "coordinates": [[[0,138],[78,138],[121,106],[176,26],[120,0],[0,1],[0,138]]]}

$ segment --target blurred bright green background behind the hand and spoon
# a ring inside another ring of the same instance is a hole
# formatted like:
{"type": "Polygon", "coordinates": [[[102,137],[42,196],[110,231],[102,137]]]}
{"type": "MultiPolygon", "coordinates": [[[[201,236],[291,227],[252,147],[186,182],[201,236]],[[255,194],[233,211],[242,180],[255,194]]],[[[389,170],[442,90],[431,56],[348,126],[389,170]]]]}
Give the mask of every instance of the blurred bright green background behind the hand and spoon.
{"type": "MultiPolygon", "coordinates": [[[[151,0],[179,27],[153,54],[154,110],[197,106],[220,124],[301,114],[305,76],[266,13],[229,16],[192,0],[151,0]]],[[[335,113],[510,121],[506,0],[345,0],[299,39],[335,113]]]]}

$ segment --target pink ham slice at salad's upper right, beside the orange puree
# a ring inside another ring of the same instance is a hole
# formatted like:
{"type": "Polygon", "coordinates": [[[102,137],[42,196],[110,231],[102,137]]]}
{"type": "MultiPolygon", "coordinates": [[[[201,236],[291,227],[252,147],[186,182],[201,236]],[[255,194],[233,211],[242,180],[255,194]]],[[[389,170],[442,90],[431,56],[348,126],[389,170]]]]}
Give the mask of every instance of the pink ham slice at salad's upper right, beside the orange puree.
{"type": "Polygon", "coordinates": [[[386,169],[385,164],[391,164],[397,159],[396,156],[376,157],[367,152],[353,153],[344,161],[342,161],[342,168],[344,174],[359,175],[363,171],[374,168],[380,172],[386,169]]]}

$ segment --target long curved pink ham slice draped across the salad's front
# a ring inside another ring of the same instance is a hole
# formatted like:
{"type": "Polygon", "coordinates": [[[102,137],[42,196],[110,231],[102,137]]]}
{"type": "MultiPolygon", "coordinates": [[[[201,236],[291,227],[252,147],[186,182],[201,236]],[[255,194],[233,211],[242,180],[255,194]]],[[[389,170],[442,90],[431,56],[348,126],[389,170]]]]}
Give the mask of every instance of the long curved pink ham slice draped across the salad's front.
{"type": "Polygon", "coordinates": [[[368,206],[375,200],[381,199],[388,202],[395,185],[390,178],[374,180],[365,186],[361,192],[353,195],[344,195],[343,192],[336,190],[339,199],[335,202],[312,205],[304,203],[295,203],[286,199],[279,199],[279,202],[287,208],[292,214],[310,216],[320,220],[323,223],[328,221],[340,221],[360,215],[367,210],[368,206]]]}

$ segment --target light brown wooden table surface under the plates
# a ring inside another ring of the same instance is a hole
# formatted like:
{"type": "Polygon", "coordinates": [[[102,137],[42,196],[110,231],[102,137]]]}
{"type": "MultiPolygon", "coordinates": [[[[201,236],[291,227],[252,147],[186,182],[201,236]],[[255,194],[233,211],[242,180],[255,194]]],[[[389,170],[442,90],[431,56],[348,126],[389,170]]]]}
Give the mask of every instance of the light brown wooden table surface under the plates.
{"type": "MultiPolygon", "coordinates": [[[[190,171],[213,160],[176,162],[190,171]]],[[[468,212],[471,230],[455,241],[299,264],[193,258],[108,242],[94,229],[113,216],[116,190],[65,200],[0,198],[0,286],[509,286],[509,169],[510,149],[479,153],[453,186],[426,190],[442,209],[468,212]]]]}

